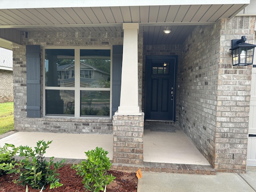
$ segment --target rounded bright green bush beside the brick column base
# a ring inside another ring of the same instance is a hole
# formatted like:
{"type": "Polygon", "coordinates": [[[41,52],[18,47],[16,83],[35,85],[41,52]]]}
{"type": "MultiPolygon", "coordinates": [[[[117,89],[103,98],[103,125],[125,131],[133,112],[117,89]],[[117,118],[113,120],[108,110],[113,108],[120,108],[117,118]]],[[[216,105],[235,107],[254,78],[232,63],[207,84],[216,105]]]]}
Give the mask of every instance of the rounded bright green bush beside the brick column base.
{"type": "Polygon", "coordinates": [[[106,156],[108,151],[96,147],[95,150],[85,152],[87,159],[80,164],[73,164],[72,169],[80,175],[84,187],[93,192],[104,191],[104,186],[110,184],[116,177],[107,174],[111,167],[109,158],[106,156]]]}

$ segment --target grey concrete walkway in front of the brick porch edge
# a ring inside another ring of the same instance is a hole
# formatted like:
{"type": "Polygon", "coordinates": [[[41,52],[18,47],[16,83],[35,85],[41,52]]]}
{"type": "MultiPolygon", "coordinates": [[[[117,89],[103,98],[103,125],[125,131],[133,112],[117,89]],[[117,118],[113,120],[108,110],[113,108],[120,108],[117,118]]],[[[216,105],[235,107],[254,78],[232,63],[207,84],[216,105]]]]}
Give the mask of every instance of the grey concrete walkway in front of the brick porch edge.
{"type": "Polygon", "coordinates": [[[256,170],[196,175],[142,172],[137,192],[255,192],[256,170]]]}

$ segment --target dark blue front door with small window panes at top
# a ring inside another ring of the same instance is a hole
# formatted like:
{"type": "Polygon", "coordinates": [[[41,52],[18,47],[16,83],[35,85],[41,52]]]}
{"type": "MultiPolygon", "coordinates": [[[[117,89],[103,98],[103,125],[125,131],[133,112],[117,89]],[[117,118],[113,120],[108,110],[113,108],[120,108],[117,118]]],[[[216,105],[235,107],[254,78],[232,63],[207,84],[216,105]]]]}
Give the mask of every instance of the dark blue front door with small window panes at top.
{"type": "Polygon", "coordinates": [[[177,56],[146,56],[145,117],[175,121],[177,56]]]}

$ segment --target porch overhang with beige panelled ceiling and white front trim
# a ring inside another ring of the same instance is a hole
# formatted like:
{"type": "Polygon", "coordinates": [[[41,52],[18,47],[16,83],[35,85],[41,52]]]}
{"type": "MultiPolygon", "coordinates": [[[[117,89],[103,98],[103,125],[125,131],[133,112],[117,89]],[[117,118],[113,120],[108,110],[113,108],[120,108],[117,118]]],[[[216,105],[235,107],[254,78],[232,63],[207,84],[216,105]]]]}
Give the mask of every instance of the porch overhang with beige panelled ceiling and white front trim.
{"type": "MultiPolygon", "coordinates": [[[[27,0],[1,1],[0,29],[29,31],[122,31],[123,23],[139,23],[144,44],[181,44],[197,25],[232,18],[250,0],[27,0]],[[172,30],[164,35],[163,30],[172,30]]],[[[10,49],[15,34],[0,39],[10,49]]],[[[0,37],[1,38],[1,37],[0,37]]]]}

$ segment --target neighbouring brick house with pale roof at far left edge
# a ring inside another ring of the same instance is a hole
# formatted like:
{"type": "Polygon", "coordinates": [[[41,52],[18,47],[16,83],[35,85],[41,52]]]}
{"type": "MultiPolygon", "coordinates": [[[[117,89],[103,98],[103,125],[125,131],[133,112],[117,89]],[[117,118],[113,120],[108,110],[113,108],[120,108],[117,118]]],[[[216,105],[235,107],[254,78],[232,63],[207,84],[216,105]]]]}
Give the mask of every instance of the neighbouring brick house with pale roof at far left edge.
{"type": "Polygon", "coordinates": [[[5,102],[13,102],[12,51],[0,48],[0,103],[5,102]]]}

